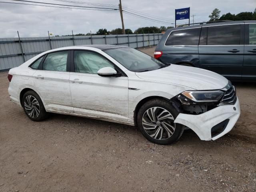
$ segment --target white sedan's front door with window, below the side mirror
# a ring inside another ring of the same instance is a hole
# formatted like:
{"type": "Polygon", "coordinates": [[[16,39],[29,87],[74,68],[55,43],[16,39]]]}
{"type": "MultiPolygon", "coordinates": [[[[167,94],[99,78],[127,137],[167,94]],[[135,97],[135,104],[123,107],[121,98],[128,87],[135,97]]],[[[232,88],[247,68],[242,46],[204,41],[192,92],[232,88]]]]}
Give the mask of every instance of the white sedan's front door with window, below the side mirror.
{"type": "Polygon", "coordinates": [[[74,72],[70,72],[70,91],[74,113],[127,121],[128,78],[124,75],[99,76],[97,72],[100,68],[115,66],[96,52],[75,50],[72,55],[74,72]]]}

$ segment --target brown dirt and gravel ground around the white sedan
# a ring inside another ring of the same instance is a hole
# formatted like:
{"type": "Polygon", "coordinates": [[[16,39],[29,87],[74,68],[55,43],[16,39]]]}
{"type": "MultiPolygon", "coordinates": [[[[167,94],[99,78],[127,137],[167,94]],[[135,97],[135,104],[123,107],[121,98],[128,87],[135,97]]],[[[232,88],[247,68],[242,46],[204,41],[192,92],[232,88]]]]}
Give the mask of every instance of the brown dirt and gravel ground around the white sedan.
{"type": "Polygon", "coordinates": [[[0,73],[1,192],[256,191],[256,84],[234,83],[241,116],[229,134],[206,142],[187,130],[161,146],[122,124],[59,114],[33,122],[9,100],[7,74],[0,73]]]}

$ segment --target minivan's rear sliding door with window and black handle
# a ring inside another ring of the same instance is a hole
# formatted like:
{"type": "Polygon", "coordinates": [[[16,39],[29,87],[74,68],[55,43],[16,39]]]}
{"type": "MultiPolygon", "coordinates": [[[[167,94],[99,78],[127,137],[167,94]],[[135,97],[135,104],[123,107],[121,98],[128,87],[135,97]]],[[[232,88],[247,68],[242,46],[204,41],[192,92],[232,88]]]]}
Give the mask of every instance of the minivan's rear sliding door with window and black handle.
{"type": "Polygon", "coordinates": [[[241,80],[244,24],[202,26],[198,46],[201,68],[241,80]]]}

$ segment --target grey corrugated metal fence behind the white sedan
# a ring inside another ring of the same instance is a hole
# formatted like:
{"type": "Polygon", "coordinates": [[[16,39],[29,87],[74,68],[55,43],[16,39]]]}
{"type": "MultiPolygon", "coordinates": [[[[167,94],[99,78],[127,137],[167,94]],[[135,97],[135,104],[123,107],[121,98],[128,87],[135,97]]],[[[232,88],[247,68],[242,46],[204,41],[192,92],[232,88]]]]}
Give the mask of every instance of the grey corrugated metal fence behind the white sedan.
{"type": "Polygon", "coordinates": [[[139,48],[158,44],[162,34],[125,34],[93,36],[57,36],[29,38],[0,38],[0,71],[20,66],[47,50],[89,44],[114,44],[139,48]],[[21,50],[22,46],[22,50],[21,50]],[[24,59],[23,59],[23,56],[24,59]]]}

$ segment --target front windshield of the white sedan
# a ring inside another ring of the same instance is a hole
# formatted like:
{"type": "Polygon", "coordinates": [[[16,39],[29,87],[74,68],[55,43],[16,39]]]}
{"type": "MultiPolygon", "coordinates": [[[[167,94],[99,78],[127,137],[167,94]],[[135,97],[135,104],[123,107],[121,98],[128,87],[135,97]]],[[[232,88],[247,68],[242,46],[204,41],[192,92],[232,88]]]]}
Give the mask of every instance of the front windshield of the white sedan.
{"type": "Polygon", "coordinates": [[[134,48],[115,48],[104,52],[133,72],[152,71],[169,66],[134,48]]]}

